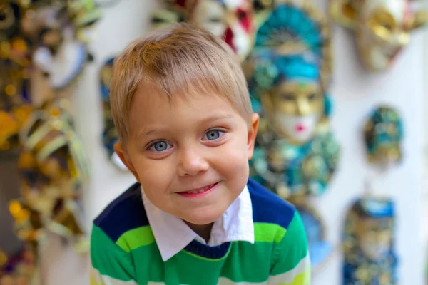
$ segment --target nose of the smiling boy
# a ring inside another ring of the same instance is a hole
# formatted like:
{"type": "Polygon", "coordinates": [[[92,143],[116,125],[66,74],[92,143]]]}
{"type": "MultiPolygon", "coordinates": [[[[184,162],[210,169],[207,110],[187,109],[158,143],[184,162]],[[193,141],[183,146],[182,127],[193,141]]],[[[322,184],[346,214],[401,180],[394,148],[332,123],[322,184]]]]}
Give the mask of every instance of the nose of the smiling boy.
{"type": "Polygon", "coordinates": [[[209,164],[195,148],[180,151],[180,162],[178,163],[178,176],[196,176],[207,171],[209,164]]]}

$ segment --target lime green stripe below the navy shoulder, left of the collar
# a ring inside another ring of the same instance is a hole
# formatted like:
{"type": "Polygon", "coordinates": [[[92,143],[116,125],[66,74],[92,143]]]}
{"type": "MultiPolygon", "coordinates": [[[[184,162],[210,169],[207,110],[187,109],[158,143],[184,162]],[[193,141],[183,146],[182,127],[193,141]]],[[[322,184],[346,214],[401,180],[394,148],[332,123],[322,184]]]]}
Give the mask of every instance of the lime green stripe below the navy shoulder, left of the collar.
{"type": "Polygon", "coordinates": [[[144,226],[125,232],[119,237],[116,244],[124,251],[130,252],[133,249],[138,249],[138,247],[143,247],[153,242],[155,242],[155,237],[153,236],[151,227],[144,226]]]}

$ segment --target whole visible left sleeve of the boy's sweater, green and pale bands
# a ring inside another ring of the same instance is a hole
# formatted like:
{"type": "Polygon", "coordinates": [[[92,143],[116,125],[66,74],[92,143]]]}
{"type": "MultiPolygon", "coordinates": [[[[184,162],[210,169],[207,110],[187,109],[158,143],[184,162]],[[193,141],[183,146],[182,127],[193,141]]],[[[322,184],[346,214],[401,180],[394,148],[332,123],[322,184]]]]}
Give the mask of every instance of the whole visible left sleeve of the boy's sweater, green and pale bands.
{"type": "Polygon", "coordinates": [[[130,253],[95,225],[91,233],[91,265],[91,285],[137,285],[130,253]]]}

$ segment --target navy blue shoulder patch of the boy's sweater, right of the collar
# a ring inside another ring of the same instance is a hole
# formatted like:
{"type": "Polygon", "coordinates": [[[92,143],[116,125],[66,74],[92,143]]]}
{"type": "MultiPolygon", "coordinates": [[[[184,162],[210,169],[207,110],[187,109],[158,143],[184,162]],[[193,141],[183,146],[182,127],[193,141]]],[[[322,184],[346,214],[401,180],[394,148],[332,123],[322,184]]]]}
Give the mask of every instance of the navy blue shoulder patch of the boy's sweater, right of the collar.
{"type": "Polygon", "coordinates": [[[288,229],[295,207],[253,179],[248,180],[247,186],[253,206],[253,222],[278,224],[288,229]]]}

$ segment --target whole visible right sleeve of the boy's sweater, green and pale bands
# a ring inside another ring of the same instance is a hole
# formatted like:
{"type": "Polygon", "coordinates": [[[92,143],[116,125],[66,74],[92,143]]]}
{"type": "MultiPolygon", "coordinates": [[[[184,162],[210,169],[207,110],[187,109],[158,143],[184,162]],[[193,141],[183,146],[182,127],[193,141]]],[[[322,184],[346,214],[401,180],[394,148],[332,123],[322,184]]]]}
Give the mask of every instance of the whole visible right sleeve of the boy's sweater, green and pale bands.
{"type": "Polygon", "coordinates": [[[300,214],[294,217],[284,237],[275,247],[269,285],[310,285],[310,257],[307,238],[300,214]]]}

